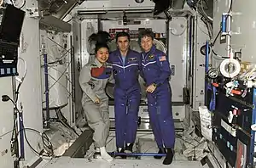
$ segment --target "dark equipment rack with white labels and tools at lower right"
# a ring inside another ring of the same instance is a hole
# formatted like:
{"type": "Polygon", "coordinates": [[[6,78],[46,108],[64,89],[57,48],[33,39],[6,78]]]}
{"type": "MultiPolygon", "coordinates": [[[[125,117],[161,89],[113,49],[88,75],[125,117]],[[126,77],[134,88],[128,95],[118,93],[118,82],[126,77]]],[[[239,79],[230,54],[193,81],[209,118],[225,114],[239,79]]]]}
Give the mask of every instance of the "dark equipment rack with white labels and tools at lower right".
{"type": "Polygon", "coordinates": [[[213,111],[212,141],[232,167],[251,168],[254,163],[256,122],[256,89],[247,88],[242,81],[232,95],[218,85],[216,109],[213,111]]]}

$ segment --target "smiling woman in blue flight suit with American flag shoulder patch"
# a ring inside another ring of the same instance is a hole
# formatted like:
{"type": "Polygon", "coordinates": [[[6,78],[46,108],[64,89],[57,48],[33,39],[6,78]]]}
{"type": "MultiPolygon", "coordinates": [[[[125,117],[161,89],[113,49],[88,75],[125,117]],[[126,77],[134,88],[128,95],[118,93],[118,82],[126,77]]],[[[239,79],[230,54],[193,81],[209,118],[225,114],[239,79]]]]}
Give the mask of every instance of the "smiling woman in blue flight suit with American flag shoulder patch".
{"type": "MultiPolygon", "coordinates": [[[[143,48],[143,79],[147,85],[148,113],[159,154],[166,153],[164,165],[172,163],[175,143],[174,121],[172,119],[172,90],[169,84],[170,64],[166,54],[154,44],[154,33],[141,31],[139,42],[143,48]]],[[[155,159],[161,157],[154,156],[155,159]]]]}

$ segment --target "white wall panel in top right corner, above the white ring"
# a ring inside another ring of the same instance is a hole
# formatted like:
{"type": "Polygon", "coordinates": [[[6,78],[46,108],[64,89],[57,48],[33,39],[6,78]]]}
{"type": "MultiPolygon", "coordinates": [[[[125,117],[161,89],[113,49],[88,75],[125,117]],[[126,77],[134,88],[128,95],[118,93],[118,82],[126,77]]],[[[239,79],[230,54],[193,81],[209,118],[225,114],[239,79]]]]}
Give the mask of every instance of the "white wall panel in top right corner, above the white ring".
{"type": "Polygon", "coordinates": [[[231,48],[241,50],[241,61],[256,64],[256,2],[253,0],[233,1],[231,22],[231,48]]]}

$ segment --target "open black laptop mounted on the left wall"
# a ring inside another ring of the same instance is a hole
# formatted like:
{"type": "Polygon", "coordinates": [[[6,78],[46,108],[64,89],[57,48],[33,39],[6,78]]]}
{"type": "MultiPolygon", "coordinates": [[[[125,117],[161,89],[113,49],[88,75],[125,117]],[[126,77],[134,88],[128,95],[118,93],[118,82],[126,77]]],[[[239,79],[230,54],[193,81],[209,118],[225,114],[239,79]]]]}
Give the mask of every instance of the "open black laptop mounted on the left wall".
{"type": "Polygon", "coordinates": [[[10,4],[4,9],[0,27],[0,77],[18,75],[18,47],[25,14],[10,4]]]}

